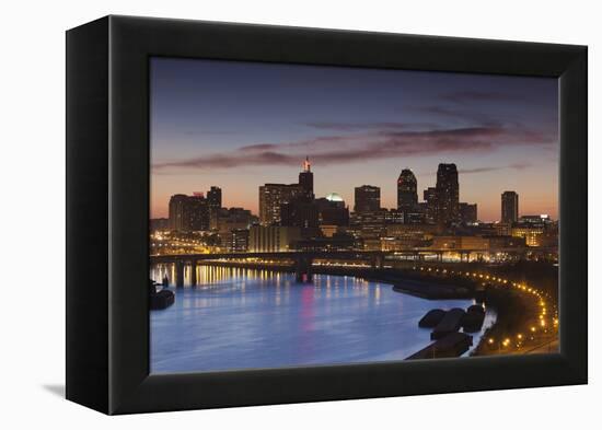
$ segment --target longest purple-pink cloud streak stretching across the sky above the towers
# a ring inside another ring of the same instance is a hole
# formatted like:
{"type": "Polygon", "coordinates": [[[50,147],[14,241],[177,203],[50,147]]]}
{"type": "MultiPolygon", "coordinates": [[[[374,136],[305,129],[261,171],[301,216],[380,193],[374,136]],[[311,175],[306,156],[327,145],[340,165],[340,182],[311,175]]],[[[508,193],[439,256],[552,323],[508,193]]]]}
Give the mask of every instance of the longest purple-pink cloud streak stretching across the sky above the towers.
{"type": "Polygon", "coordinates": [[[501,147],[545,147],[554,142],[556,142],[556,137],[553,133],[499,126],[429,131],[381,129],[350,136],[324,136],[293,142],[256,143],[220,154],[161,162],[154,164],[153,168],[164,171],[169,168],[234,168],[241,165],[294,165],[308,152],[312,153],[312,159],[316,163],[327,165],[382,160],[392,156],[450,154],[467,151],[489,153],[501,147]]]}

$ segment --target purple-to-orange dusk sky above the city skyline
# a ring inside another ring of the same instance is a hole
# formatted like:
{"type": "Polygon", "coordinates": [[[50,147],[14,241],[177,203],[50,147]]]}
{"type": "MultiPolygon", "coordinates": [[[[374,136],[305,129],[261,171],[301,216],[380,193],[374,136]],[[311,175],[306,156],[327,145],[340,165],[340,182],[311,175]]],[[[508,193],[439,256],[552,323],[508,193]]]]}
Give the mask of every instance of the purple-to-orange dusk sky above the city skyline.
{"type": "Polygon", "coordinates": [[[409,167],[418,198],[455,163],[460,201],[500,218],[558,209],[557,80],[216,60],[151,60],[151,217],[173,194],[222,188],[224,207],[258,212],[258,187],[296,183],[306,155],[316,197],[381,187],[396,207],[409,167]]]}

